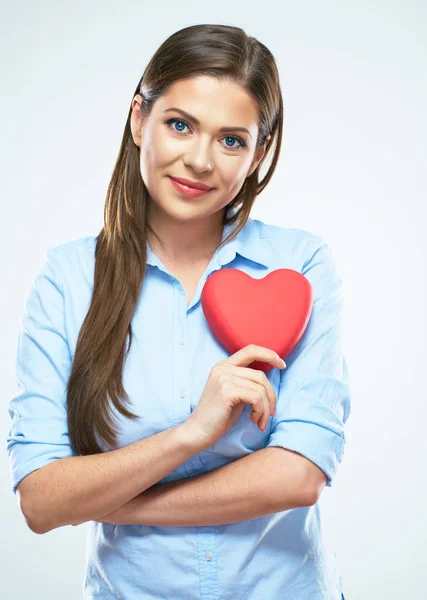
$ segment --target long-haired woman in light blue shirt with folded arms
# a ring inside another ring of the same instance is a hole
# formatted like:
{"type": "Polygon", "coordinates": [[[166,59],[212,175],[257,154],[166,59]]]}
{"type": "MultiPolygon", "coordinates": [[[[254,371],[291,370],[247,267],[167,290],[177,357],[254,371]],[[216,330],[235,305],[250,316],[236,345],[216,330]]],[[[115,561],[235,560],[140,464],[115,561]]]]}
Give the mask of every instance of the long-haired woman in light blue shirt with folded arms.
{"type": "Polygon", "coordinates": [[[133,94],[104,227],[49,249],[33,282],[13,491],[34,532],[89,522],[85,598],[344,597],[317,503],[350,413],[342,280],[319,235],[249,216],[282,127],[263,44],[223,25],[176,32],[133,94]],[[310,281],[286,368],[213,336],[200,296],[222,268],[310,281]]]}

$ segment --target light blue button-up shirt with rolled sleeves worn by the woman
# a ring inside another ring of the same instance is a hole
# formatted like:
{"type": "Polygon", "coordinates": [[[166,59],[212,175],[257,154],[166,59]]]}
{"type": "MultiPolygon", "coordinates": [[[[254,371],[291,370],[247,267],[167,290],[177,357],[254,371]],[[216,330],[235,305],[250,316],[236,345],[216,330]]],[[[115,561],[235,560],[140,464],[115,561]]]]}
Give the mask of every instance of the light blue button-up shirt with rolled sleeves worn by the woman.
{"type": "MultiPolygon", "coordinates": [[[[69,443],[65,386],[90,304],[95,243],[95,236],[87,236],[48,249],[28,293],[16,360],[19,390],[9,401],[7,451],[15,493],[35,469],[76,455],[69,443]]],[[[209,275],[223,267],[254,278],[294,269],[312,285],[313,310],[302,339],[285,359],[287,368],[267,373],[277,413],[266,431],[250,420],[252,408],[246,405],[218,442],[158,483],[281,446],[320,467],[330,487],[344,452],[350,394],[342,349],[343,280],[324,239],[250,218],[237,238],[214,254],[188,306],[180,281],[148,244],[147,263],[123,376],[130,408],[141,418],[126,420],[113,408],[118,447],[184,422],[213,365],[230,356],[202,310],[200,295],[209,275]]],[[[83,588],[84,598],[102,600],[340,600],[343,581],[316,503],[208,527],[90,521],[83,588]]]]}

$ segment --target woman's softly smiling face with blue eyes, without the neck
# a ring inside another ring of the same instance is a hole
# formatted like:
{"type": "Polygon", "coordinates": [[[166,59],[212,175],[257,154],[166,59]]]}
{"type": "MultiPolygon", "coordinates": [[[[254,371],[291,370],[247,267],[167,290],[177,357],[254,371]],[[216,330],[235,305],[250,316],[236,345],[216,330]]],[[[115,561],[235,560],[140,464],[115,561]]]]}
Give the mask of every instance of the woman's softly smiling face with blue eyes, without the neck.
{"type": "Polygon", "coordinates": [[[200,76],[172,84],[146,119],[139,112],[141,100],[138,94],[132,102],[132,135],[140,147],[141,175],[155,212],[187,220],[220,211],[265,152],[264,146],[255,154],[258,114],[252,99],[237,84],[200,76]],[[247,131],[232,131],[233,127],[247,131]],[[213,189],[188,198],[175,189],[171,176],[213,189]]]}

